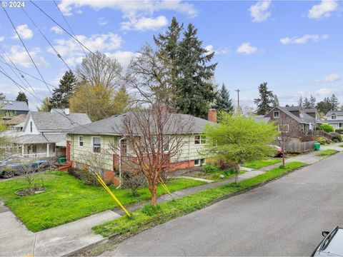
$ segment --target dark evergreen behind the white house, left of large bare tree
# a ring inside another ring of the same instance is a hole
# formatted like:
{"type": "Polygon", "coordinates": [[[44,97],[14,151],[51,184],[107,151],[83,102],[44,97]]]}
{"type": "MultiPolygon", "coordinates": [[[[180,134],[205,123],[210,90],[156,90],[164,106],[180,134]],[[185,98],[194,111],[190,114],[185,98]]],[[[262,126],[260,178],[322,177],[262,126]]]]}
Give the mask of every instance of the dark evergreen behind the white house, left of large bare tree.
{"type": "Polygon", "coordinates": [[[73,71],[66,71],[59,81],[59,88],[54,89],[50,100],[51,108],[69,108],[69,99],[74,94],[76,76],[73,71]]]}

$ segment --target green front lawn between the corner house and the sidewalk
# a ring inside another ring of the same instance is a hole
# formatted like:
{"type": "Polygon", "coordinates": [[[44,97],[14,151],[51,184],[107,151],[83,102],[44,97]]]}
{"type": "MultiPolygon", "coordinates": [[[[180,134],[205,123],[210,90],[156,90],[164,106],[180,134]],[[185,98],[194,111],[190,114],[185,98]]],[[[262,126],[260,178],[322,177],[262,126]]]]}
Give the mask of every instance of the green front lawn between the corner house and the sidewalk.
{"type": "MultiPolygon", "coordinates": [[[[44,177],[46,191],[33,196],[14,194],[16,190],[27,187],[23,178],[0,182],[0,198],[30,231],[41,231],[117,207],[114,199],[104,188],[86,186],[68,173],[56,171],[38,177],[44,177]]],[[[170,181],[167,186],[170,191],[177,191],[203,183],[205,182],[177,178],[170,181]]],[[[110,188],[124,206],[150,198],[146,187],[140,189],[139,196],[136,197],[131,196],[129,190],[112,186],[110,188]]],[[[166,193],[161,186],[157,192],[159,195],[166,193]]]]}

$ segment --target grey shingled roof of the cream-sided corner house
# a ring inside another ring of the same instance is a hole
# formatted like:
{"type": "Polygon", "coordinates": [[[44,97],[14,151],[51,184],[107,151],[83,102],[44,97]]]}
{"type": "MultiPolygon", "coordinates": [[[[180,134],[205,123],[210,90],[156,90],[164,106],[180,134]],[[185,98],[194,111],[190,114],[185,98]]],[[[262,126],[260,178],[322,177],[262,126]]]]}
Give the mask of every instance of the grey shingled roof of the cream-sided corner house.
{"type": "MultiPolygon", "coordinates": [[[[84,126],[78,126],[72,129],[68,133],[73,134],[95,134],[95,135],[123,135],[122,124],[125,116],[129,116],[131,113],[120,114],[116,116],[111,116],[107,119],[101,121],[95,121],[91,124],[86,124],[84,126]]],[[[170,122],[182,122],[186,124],[187,122],[192,122],[192,128],[187,129],[187,133],[202,133],[204,132],[205,124],[214,124],[212,121],[207,121],[205,119],[200,119],[188,114],[171,114],[170,122]]],[[[173,131],[173,126],[168,126],[168,131],[165,133],[177,133],[173,131]]],[[[177,126],[176,126],[177,127],[177,126]]],[[[177,128],[179,129],[179,128],[177,128]]],[[[179,132],[179,131],[178,131],[179,132]]]]}

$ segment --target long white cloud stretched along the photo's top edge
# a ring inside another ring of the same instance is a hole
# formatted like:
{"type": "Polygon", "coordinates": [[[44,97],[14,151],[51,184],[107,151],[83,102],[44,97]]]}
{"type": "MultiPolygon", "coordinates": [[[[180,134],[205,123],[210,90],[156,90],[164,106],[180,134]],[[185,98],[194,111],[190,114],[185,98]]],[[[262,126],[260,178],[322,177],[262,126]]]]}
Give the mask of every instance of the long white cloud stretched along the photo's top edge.
{"type": "Polygon", "coordinates": [[[111,1],[99,1],[99,0],[62,0],[59,4],[59,8],[65,15],[72,15],[73,7],[91,6],[91,8],[100,10],[104,8],[119,9],[124,17],[133,17],[137,14],[154,14],[155,11],[170,10],[178,11],[187,16],[197,16],[197,9],[194,8],[193,4],[184,3],[180,0],[177,1],[122,1],[122,0],[111,0],[111,1]]]}

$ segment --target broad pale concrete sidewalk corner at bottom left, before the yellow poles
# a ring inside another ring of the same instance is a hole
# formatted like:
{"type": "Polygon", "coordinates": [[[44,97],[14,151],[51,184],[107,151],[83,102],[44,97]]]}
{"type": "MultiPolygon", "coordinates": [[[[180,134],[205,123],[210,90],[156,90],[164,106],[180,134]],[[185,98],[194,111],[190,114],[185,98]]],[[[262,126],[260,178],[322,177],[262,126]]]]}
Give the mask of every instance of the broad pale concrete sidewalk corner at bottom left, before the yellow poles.
{"type": "Polygon", "coordinates": [[[32,233],[5,206],[0,206],[0,256],[64,256],[107,239],[93,226],[119,218],[104,211],[78,221],[32,233]]]}

